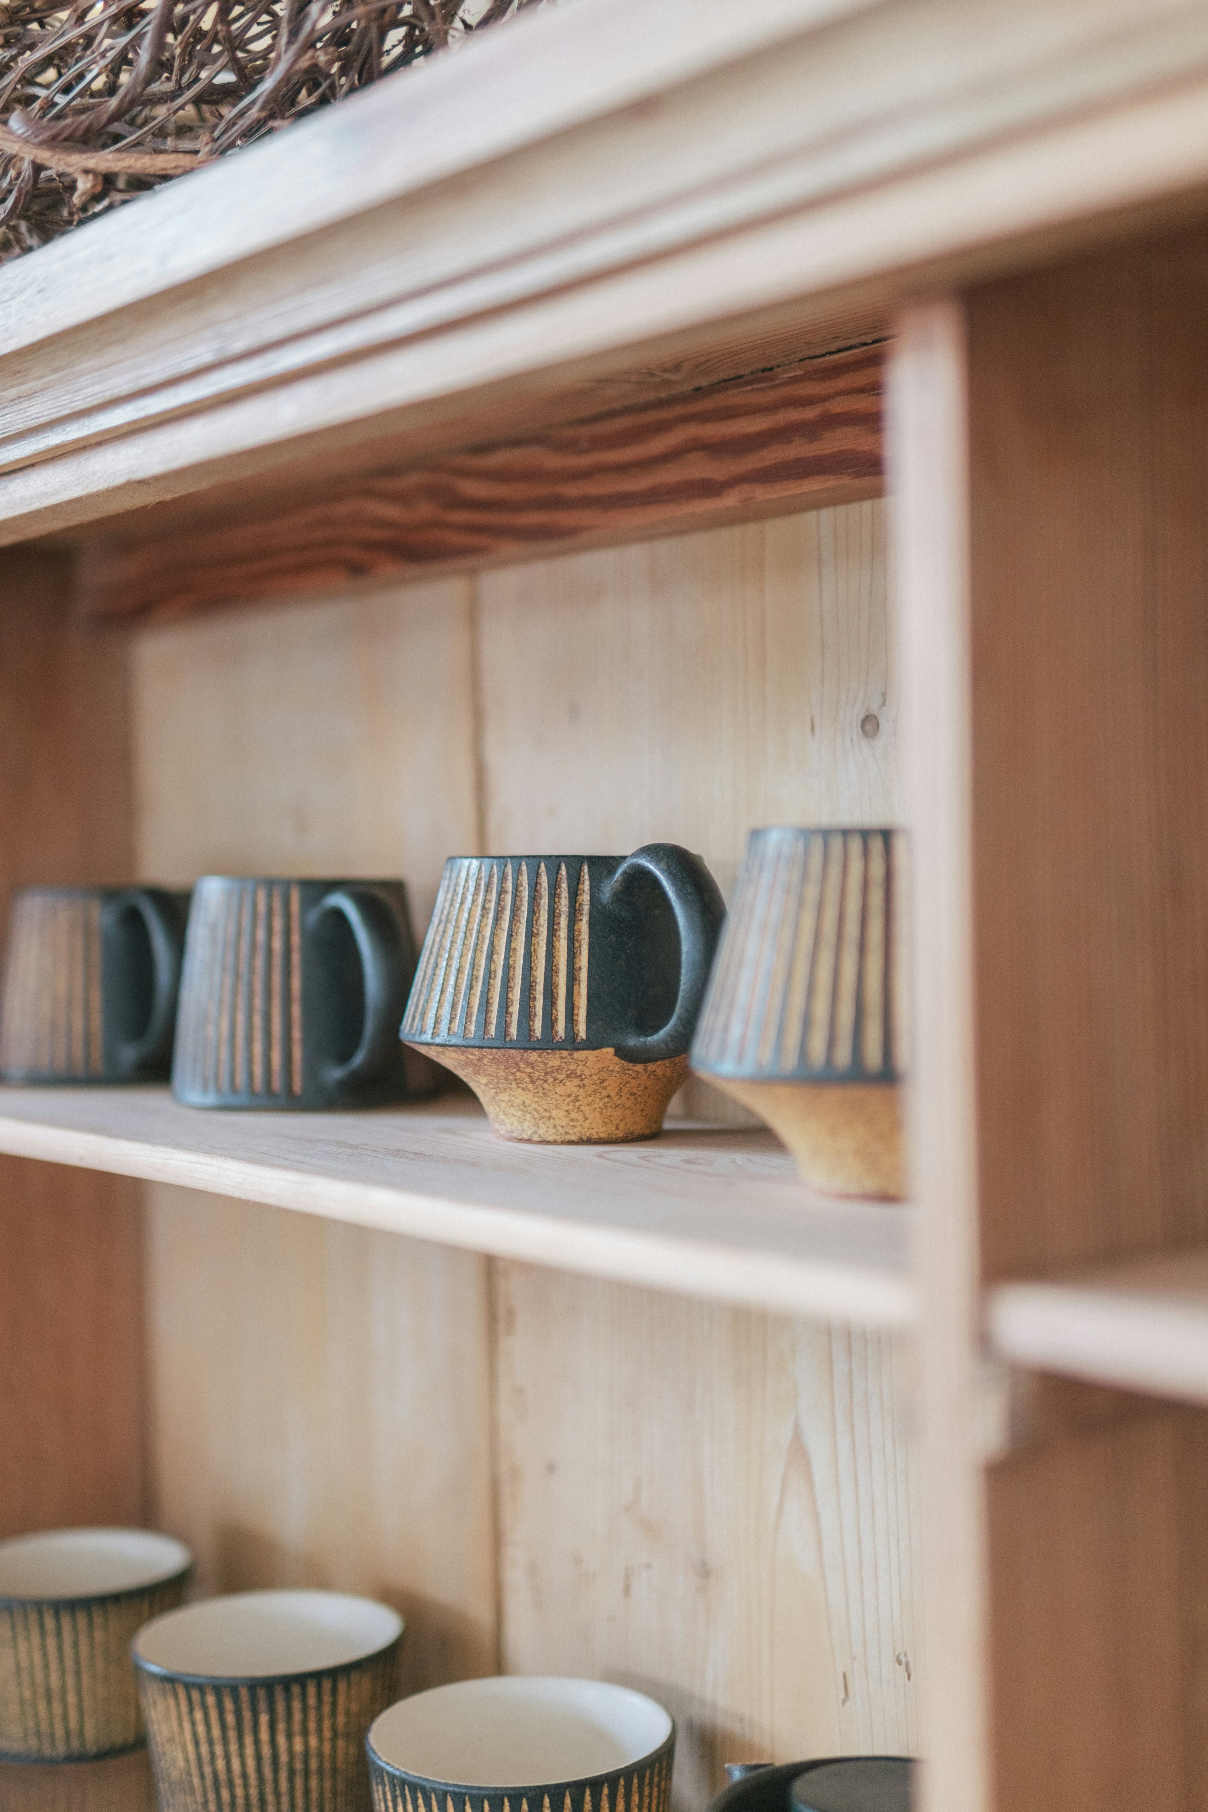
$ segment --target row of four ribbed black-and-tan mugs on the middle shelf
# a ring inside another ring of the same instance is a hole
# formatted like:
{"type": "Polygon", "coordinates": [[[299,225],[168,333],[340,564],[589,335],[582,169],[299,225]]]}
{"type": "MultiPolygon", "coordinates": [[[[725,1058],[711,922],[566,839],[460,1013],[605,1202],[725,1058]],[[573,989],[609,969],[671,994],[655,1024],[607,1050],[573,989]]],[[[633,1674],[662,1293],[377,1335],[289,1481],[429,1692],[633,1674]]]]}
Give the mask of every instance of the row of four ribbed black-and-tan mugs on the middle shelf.
{"type": "Polygon", "coordinates": [[[453,857],[417,957],[397,881],[206,875],[16,895],[9,1082],[172,1075],[194,1107],[368,1107],[455,1071],[507,1138],[648,1138],[690,1065],[806,1181],[902,1194],[904,837],[753,832],[726,919],[705,863],[453,857]]]}

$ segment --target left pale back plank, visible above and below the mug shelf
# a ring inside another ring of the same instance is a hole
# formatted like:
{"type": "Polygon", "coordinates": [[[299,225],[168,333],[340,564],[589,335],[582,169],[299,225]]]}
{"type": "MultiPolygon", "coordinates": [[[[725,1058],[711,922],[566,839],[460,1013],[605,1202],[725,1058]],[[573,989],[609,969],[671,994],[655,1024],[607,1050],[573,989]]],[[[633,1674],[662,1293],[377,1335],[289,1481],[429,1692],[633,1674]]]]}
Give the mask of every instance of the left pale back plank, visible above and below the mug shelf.
{"type": "MultiPolygon", "coordinates": [[[[475,844],[465,583],[134,645],[143,873],[402,873],[475,844]]],[[[206,1586],[398,1604],[411,1683],[494,1665],[487,1274],[475,1254],[149,1194],[150,1482],[206,1586]]]]}

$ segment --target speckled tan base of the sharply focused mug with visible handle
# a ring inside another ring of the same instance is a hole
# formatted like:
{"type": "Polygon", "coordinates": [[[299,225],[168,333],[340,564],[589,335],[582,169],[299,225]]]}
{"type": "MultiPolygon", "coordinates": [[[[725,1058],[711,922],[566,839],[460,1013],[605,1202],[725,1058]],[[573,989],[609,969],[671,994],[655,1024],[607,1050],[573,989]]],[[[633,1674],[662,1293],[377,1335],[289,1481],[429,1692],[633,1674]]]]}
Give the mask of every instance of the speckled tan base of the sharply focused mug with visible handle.
{"type": "Polygon", "coordinates": [[[469,1082],[502,1138],[532,1145],[616,1145],[654,1138],[672,1094],[688,1080],[686,1056],[627,1064],[612,1049],[426,1046],[424,1055],[436,1056],[469,1082]]]}

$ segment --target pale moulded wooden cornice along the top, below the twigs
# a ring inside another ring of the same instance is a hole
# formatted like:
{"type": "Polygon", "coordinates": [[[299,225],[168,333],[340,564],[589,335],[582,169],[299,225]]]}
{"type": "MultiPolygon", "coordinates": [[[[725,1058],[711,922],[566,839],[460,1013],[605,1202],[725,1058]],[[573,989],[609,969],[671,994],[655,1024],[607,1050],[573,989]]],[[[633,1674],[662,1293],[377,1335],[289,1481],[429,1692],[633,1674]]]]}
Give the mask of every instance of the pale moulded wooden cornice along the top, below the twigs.
{"type": "MultiPolygon", "coordinates": [[[[1186,0],[1012,9],[907,0],[829,20],[806,0],[793,16],[788,0],[768,0],[752,54],[739,56],[717,31],[719,13],[710,0],[701,14],[705,67],[685,78],[668,65],[657,109],[618,111],[605,83],[580,98],[574,129],[558,103],[549,136],[534,143],[529,132],[522,150],[511,149],[509,111],[496,161],[480,158],[446,181],[446,165],[424,158],[464,123],[476,136],[476,78],[496,53],[475,45],[473,63],[464,53],[475,78],[464,91],[456,62],[446,65],[440,120],[427,116],[415,141],[415,169],[433,179],[413,196],[326,230],[299,228],[230,275],[223,266],[179,283],[179,294],[161,290],[154,312],[118,308],[14,353],[4,373],[7,455],[25,464],[0,480],[5,533],[96,518],[295,457],[348,457],[357,440],[406,437],[415,457],[498,433],[509,411],[513,426],[522,411],[565,419],[583,413],[587,386],[636,364],[666,368],[719,330],[733,333],[739,319],[755,337],[773,317],[795,323],[808,346],[817,321],[833,323],[840,308],[868,319],[904,286],[967,277],[987,259],[1018,265],[1038,234],[1061,243],[1101,234],[1114,212],[1161,207],[1208,178],[1208,24],[1186,0]],[[768,38],[777,42],[766,47],[768,38]]],[[[554,45],[563,58],[545,91],[518,83],[542,94],[538,114],[561,71],[590,62],[603,22],[616,22],[607,63],[643,54],[643,33],[625,36],[625,9],[614,20],[585,7],[581,34],[574,14],[565,9],[552,40],[542,18],[525,22],[534,69],[554,45]]],[[[513,74],[503,51],[498,58],[498,74],[513,74]]],[[[331,143],[333,169],[357,178],[379,112],[360,118],[373,121],[364,141],[353,123],[331,143]]],[[[241,158],[243,169],[261,167],[257,150],[241,158]]],[[[219,183],[226,212],[239,212],[228,196],[239,159],[230,169],[185,179],[192,194],[205,185],[206,199],[197,223],[179,216],[183,239],[210,219],[219,183]]],[[[264,185],[273,196],[275,172],[277,161],[264,185]]],[[[302,187],[284,156],[281,172],[292,192],[302,187]]],[[[339,214],[319,188],[322,217],[339,214]]],[[[120,261],[123,223],[103,239],[107,268],[120,261]]],[[[109,226],[81,237],[100,245],[109,226]]],[[[34,261],[53,261],[58,277],[76,255],[53,246],[34,261]]],[[[34,279],[14,279],[11,292],[0,281],[0,299],[9,294],[18,312],[25,281],[34,279]]],[[[138,281],[130,294],[145,294],[138,281]]],[[[72,294],[91,290],[85,279],[72,294]]]]}

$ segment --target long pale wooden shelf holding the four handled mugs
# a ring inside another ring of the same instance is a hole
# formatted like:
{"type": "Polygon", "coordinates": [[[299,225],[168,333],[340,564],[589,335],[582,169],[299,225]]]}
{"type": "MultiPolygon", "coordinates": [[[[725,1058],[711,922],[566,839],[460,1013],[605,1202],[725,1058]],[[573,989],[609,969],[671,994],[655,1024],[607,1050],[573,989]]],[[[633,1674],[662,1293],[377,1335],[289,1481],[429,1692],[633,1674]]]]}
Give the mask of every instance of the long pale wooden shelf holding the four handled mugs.
{"type": "Polygon", "coordinates": [[[909,1210],[835,1203],[762,1131],[685,1123],[641,1145],[494,1138],[476,1104],[201,1113],[167,1089],[5,1089],[0,1151],[183,1183],[560,1270],[896,1326],[909,1210]]]}

